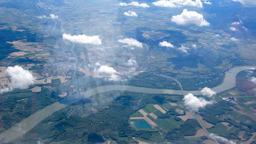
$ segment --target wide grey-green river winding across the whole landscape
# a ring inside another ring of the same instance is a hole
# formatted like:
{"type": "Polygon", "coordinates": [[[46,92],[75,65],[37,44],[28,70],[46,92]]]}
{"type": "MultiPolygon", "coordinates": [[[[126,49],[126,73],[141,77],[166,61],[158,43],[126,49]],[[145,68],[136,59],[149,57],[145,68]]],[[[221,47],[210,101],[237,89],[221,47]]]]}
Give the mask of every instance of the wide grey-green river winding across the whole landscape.
{"type": "MultiPolygon", "coordinates": [[[[240,71],[246,69],[256,68],[255,66],[242,66],[231,69],[226,72],[225,79],[223,83],[217,87],[213,87],[216,92],[222,92],[230,88],[235,87],[236,85],[236,75],[240,71]]],[[[180,85],[181,86],[181,85],[180,85]]],[[[200,91],[181,91],[181,90],[164,90],[164,89],[154,89],[154,88],[144,88],[144,87],[133,87],[133,86],[121,86],[121,85],[109,85],[109,86],[100,86],[87,91],[82,92],[81,94],[74,94],[63,99],[63,101],[55,102],[49,106],[46,106],[44,109],[41,109],[34,114],[31,114],[29,117],[23,119],[18,124],[12,126],[12,128],[5,130],[0,134],[0,142],[8,143],[14,139],[17,139],[23,134],[29,132],[33,129],[39,122],[49,117],[56,111],[63,109],[71,103],[77,102],[83,98],[89,98],[93,95],[100,94],[103,92],[109,91],[128,91],[128,92],[139,92],[147,94],[176,94],[176,95],[186,95],[191,92],[194,95],[201,95],[200,91]]]]}

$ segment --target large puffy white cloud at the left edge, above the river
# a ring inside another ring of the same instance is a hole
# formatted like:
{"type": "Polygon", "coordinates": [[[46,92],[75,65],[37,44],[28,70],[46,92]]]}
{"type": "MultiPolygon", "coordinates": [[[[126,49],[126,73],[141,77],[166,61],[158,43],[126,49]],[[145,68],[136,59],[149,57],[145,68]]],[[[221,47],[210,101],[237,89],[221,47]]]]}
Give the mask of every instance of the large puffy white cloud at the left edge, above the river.
{"type": "Polygon", "coordinates": [[[15,88],[28,88],[35,81],[35,77],[28,70],[23,69],[18,65],[7,67],[5,75],[10,79],[9,88],[0,90],[0,93],[12,91],[15,88]]]}

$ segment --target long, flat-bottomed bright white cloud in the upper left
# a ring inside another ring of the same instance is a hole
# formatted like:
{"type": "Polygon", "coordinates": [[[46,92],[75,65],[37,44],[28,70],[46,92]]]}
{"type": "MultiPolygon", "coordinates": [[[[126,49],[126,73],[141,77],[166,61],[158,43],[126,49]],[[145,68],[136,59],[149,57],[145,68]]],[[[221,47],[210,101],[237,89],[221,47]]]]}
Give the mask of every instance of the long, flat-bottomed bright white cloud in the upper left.
{"type": "Polygon", "coordinates": [[[101,39],[99,39],[98,35],[87,36],[85,34],[82,34],[82,35],[63,34],[62,38],[75,43],[81,43],[81,44],[90,43],[94,45],[101,45],[101,39]]]}

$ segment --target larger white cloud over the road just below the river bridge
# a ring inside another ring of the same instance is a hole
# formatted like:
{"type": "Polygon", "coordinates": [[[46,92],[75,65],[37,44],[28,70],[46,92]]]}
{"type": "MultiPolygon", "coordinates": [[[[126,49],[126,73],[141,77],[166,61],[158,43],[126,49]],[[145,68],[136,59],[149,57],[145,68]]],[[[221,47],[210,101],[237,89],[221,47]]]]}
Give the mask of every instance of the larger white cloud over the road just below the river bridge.
{"type": "Polygon", "coordinates": [[[188,106],[193,111],[198,111],[199,108],[203,108],[208,104],[212,104],[211,101],[206,101],[204,98],[197,98],[191,93],[184,96],[184,105],[188,106]]]}

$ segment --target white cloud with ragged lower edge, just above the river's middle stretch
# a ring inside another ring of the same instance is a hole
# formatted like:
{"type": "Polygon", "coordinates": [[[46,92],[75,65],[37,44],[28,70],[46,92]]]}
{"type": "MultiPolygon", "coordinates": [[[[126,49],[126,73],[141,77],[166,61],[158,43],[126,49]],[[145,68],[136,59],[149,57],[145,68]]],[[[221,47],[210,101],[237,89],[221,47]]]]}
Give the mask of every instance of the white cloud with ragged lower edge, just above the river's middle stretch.
{"type": "Polygon", "coordinates": [[[100,65],[99,68],[96,69],[96,72],[106,76],[106,79],[111,81],[118,81],[121,79],[120,76],[117,75],[118,72],[114,68],[107,65],[100,65]]]}

